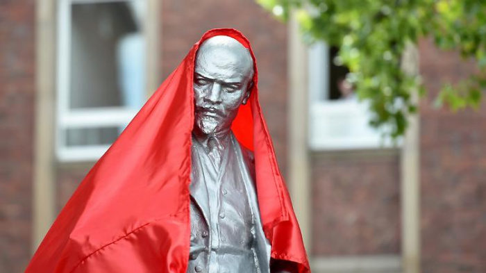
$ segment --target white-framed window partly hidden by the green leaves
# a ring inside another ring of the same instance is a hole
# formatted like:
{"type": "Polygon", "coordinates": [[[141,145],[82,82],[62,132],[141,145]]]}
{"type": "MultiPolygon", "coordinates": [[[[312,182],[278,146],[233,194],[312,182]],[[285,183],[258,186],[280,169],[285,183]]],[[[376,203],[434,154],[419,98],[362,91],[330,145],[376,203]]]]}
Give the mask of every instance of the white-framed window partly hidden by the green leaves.
{"type": "MultiPolygon", "coordinates": [[[[337,49],[317,42],[309,49],[309,145],[313,150],[382,147],[381,133],[369,126],[366,102],[346,81],[348,69],[335,61],[337,49]]],[[[389,145],[387,145],[389,146],[389,145]]]]}

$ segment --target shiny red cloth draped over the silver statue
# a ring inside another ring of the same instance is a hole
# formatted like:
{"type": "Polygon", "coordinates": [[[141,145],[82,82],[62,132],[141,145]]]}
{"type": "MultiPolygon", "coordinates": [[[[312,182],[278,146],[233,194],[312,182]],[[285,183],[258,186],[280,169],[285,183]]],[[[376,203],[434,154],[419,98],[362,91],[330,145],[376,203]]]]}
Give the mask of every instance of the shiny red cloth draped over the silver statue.
{"type": "MultiPolygon", "coordinates": [[[[186,272],[190,249],[193,74],[199,45],[228,35],[208,31],[90,169],[35,252],[27,273],[186,272]]],[[[310,272],[289,193],[258,102],[258,72],[232,125],[255,156],[255,188],[271,257],[310,272]]]]}

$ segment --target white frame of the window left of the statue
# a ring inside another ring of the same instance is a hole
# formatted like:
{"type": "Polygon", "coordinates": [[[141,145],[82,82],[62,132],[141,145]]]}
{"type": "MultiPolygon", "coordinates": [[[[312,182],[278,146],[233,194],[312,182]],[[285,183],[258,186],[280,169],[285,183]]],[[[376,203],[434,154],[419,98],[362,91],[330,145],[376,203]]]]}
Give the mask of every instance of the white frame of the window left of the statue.
{"type": "MultiPolygon", "coordinates": [[[[97,160],[111,146],[111,144],[99,144],[67,147],[65,143],[67,129],[122,127],[126,126],[138,112],[138,110],[128,109],[123,106],[81,109],[69,108],[72,5],[76,3],[113,3],[129,1],[146,0],[58,0],[58,69],[55,146],[56,156],[61,162],[97,160]],[[103,118],[100,119],[99,117],[103,118]]],[[[142,29],[142,33],[146,38],[146,31],[144,29],[142,29]]]]}

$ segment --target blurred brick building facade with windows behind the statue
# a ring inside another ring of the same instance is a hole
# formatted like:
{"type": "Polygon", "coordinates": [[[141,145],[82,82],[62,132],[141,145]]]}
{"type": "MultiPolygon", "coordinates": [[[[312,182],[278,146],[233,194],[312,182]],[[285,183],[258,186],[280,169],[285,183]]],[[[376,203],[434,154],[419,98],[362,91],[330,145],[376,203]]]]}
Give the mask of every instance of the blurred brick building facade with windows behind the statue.
{"type": "Polygon", "coordinates": [[[250,0],[0,3],[0,272],[24,270],[137,101],[218,27],[252,43],[314,272],[486,272],[486,103],[431,106],[471,63],[422,40],[412,65],[430,94],[412,141],[383,146],[365,107],[339,94],[333,49],[304,47],[294,22],[250,0]]]}

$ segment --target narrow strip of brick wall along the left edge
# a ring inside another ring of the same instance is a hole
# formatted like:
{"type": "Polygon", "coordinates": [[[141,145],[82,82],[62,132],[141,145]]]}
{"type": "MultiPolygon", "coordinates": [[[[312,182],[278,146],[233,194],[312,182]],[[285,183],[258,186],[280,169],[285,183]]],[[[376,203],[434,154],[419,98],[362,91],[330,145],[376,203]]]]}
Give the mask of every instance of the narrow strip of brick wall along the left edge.
{"type": "Polygon", "coordinates": [[[0,1],[0,272],[31,256],[34,2],[0,1]]]}

